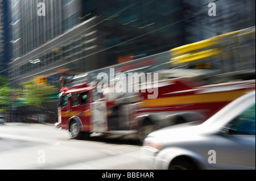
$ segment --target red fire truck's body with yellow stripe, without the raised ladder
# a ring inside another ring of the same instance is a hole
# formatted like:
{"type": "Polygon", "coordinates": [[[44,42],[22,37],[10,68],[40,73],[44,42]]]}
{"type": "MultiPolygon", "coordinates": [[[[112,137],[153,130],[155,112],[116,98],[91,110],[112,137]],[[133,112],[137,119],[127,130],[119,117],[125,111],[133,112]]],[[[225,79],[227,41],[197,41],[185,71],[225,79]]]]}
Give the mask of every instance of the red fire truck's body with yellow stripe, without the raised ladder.
{"type": "Polygon", "coordinates": [[[59,123],[73,138],[89,133],[138,134],[143,140],[156,129],[190,121],[204,121],[232,100],[255,89],[255,80],[198,86],[192,78],[158,83],[158,98],[115,96],[108,99],[89,83],[60,94],[59,123]]]}

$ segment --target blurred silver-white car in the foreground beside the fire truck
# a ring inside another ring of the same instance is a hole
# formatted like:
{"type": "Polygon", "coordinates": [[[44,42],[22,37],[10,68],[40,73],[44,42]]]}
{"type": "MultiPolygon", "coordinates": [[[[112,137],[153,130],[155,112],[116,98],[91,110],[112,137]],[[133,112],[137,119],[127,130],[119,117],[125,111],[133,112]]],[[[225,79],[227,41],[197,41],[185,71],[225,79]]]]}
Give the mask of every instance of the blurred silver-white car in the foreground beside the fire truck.
{"type": "Polygon", "coordinates": [[[185,123],[150,133],[141,151],[151,169],[255,170],[255,91],[203,124],[185,123]]]}

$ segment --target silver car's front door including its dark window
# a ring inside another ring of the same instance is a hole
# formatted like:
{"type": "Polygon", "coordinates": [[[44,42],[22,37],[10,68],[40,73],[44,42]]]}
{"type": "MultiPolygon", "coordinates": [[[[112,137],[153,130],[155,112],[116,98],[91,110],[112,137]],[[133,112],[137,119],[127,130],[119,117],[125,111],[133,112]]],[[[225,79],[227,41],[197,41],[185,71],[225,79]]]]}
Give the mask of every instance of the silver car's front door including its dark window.
{"type": "Polygon", "coordinates": [[[219,169],[255,169],[255,103],[225,126],[216,139],[219,169]]]}

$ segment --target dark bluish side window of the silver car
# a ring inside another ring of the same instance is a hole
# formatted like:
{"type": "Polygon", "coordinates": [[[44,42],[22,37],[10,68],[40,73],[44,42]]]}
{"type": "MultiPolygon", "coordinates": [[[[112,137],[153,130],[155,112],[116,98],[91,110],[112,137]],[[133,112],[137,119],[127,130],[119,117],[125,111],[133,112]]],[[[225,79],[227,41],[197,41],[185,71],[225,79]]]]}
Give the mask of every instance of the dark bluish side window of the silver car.
{"type": "Polygon", "coordinates": [[[255,103],[230,121],[226,128],[230,134],[255,134],[255,103]]]}

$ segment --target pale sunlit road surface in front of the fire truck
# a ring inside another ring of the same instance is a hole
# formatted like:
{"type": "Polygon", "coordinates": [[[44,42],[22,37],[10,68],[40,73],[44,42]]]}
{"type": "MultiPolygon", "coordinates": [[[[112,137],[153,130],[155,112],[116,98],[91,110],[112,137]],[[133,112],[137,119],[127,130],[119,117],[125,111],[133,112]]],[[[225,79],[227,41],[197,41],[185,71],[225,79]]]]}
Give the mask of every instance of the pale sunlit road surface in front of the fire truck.
{"type": "Polygon", "coordinates": [[[148,170],[136,140],[73,140],[50,124],[0,125],[0,170],[148,170]]]}

